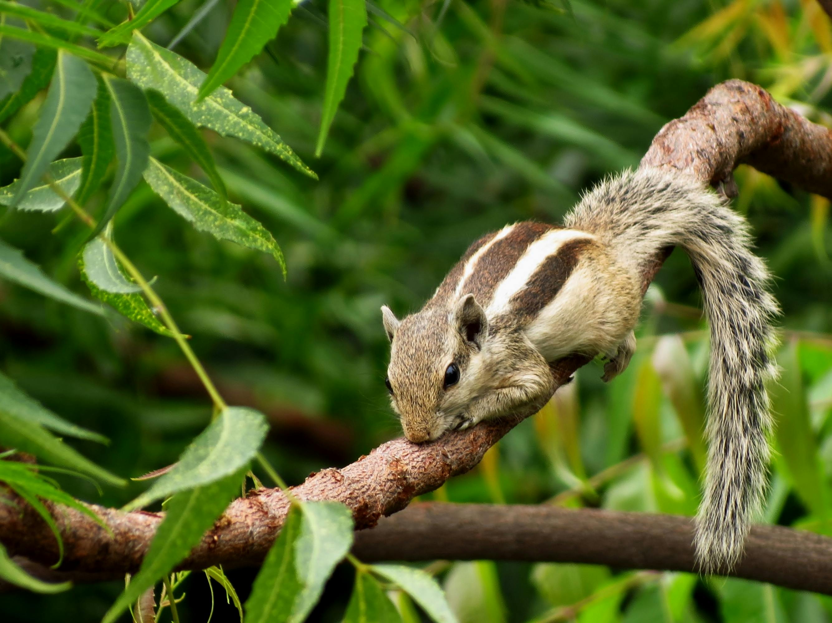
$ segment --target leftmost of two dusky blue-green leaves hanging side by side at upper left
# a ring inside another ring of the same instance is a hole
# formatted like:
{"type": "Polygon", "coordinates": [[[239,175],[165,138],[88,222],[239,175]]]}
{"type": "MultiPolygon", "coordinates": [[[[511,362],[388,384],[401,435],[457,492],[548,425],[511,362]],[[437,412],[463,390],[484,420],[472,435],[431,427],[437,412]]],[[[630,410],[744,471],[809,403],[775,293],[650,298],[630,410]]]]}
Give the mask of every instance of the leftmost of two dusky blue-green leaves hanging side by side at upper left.
{"type": "Polygon", "coordinates": [[[58,52],[55,74],[32,131],[12,206],[41,181],[49,163],[75,136],[95,96],[96,78],[87,63],[63,50],[58,52]]]}

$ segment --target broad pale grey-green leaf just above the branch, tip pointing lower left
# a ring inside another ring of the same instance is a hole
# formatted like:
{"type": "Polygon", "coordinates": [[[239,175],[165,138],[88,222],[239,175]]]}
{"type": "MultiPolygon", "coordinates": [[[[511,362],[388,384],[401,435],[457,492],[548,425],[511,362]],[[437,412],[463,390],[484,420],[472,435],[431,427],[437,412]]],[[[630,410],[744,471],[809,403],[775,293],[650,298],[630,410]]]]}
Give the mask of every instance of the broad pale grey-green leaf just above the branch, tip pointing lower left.
{"type": "Polygon", "coordinates": [[[126,510],[145,507],[173,493],[201,487],[248,465],[260,449],[269,425],[262,413],[228,407],[186,447],[171,471],[156,480],[126,510]]]}

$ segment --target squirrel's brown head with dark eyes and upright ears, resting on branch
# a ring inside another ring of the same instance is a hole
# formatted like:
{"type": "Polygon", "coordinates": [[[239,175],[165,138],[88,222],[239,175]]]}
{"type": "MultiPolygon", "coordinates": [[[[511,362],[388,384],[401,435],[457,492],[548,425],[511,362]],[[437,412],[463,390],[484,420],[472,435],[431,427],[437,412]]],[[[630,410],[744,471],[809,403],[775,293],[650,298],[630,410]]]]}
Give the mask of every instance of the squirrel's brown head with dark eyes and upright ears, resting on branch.
{"type": "Polygon", "coordinates": [[[410,441],[433,441],[463,423],[477,397],[488,319],[473,294],[450,309],[423,309],[404,320],[386,305],[381,313],[391,344],[386,383],[393,408],[410,441]]]}

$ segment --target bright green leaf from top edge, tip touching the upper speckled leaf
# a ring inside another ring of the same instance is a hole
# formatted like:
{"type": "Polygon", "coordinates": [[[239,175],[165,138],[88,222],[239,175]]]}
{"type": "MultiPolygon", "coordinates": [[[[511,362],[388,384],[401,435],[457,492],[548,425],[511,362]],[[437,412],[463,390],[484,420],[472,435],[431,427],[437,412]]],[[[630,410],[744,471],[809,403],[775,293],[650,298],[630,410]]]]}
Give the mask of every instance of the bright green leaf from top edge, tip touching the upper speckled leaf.
{"type": "Polygon", "coordinates": [[[214,66],[200,86],[198,100],[234,76],[240,67],[260,53],[263,46],[289,20],[293,0],[240,0],[225,31],[214,66]]]}

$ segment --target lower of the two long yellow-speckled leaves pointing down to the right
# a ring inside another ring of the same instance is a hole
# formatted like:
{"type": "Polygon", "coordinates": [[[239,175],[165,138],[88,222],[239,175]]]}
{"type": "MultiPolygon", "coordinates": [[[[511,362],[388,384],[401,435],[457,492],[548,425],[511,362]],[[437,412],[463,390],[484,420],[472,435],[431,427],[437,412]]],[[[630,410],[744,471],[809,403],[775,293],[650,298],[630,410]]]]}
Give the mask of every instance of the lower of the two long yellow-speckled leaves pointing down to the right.
{"type": "Polygon", "coordinates": [[[151,188],[197,230],[207,231],[220,240],[230,240],[250,249],[273,255],[286,272],[283,254],[263,225],[198,181],[151,158],[145,171],[151,188]]]}

